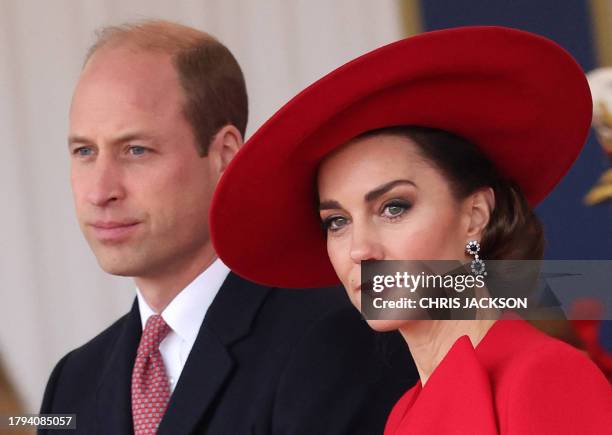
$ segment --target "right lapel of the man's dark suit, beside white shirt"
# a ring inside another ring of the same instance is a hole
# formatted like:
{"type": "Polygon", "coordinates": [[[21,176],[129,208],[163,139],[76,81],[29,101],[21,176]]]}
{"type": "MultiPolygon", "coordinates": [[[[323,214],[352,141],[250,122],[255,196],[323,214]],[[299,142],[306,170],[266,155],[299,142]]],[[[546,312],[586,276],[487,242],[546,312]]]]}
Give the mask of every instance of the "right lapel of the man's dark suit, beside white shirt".
{"type": "Polygon", "coordinates": [[[230,273],[211,304],[170,398],[158,434],[193,432],[230,378],[231,344],[249,333],[269,289],[230,273]]]}

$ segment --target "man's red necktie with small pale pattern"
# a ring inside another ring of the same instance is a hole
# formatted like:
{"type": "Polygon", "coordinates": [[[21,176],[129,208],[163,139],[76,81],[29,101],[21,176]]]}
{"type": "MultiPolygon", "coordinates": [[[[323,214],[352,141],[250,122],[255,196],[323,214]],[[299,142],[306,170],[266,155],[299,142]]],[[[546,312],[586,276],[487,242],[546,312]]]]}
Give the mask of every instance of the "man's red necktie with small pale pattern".
{"type": "Polygon", "coordinates": [[[170,386],[166,368],[159,352],[159,344],[170,332],[170,327],[158,314],[150,316],[132,372],[132,417],[135,435],[150,435],[157,432],[168,400],[170,386]]]}

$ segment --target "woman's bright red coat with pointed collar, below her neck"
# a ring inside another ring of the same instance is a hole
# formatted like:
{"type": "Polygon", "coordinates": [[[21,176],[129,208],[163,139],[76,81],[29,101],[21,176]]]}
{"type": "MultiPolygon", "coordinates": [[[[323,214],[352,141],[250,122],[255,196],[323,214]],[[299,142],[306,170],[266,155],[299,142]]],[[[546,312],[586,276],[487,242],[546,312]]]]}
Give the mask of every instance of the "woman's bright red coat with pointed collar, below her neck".
{"type": "Polygon", "coordinates": [[[522,320],[498,321],[474,349],[462,337],[396,404],[386,435],[603,434],[612,387],[581,351],[522,320]]]}

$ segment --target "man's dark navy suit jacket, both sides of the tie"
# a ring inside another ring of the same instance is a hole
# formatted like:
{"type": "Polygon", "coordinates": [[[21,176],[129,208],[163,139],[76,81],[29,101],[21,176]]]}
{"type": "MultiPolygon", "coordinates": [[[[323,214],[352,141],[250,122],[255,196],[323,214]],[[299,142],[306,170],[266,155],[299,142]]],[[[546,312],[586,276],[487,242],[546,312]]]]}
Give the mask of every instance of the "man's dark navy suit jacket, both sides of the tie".
{"type": "MultiPolygon", "coordinates": [[[[76,414],[79,434],[133,433],[130,382],[141,332],[134,302],[59,361],[41,413],[76,414]]],[[[373,332],[344,290],[270,288],[230,273],[158,433],[382,434],[416,379],[401,337],[373,332]]]]}

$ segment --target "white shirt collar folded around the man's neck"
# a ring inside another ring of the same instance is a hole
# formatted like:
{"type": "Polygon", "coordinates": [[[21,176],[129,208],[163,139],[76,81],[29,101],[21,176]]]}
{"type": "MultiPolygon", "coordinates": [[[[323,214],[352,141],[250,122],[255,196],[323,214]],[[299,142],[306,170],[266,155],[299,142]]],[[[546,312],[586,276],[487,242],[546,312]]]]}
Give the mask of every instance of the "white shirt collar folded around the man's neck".
{"type": "MultiPolygon", "coordinates": [[[[219,292],[223,281],[227,278],[229,271],[229,268],[217,258],[204,272],[179,292],[162,311],[161,316],[164,321],[183,340],[191,344],[195,342],[204,316],[219,292]]],[[[136,296],[142,329],[144,330],[147,319],[155,312],[149,307],[138,288],[136,289],[136,296]]]]}

